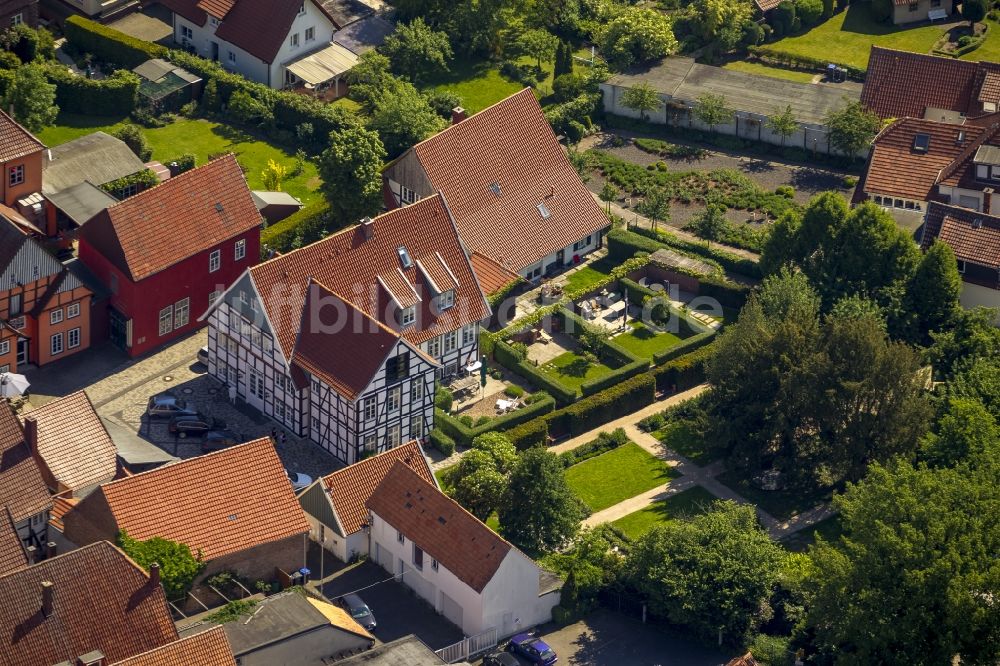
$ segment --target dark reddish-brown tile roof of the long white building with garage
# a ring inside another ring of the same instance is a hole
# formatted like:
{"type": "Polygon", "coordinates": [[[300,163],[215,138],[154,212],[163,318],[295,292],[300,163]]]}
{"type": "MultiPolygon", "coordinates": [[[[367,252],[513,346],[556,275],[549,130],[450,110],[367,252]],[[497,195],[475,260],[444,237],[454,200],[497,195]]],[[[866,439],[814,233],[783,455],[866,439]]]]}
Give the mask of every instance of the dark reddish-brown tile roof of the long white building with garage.
{"type": "Polygon", "coordinates": [[[401,461],[393,465],[366,504],[479,593],[513,548],[401,461]]]}

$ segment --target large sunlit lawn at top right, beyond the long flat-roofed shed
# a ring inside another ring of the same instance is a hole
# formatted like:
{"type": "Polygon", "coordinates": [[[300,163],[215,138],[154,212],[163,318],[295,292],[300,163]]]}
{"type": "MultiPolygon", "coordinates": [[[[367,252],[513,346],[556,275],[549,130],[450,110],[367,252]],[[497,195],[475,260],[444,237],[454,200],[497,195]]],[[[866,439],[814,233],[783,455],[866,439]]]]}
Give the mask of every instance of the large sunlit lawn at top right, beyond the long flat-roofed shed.
{"type": "MultiPolygon", "coordinates": [[[[810,58],[855,67],[868,66],[868,52],[873,45],[890,49],[929,53],[935,42],[941,38],[944,29],[940,25],[920,27],[895,26],[879,23],[872,18],[871,3],[855,3],[847,11],[834,14],[830,20],[821,23],[801,35],[785,37],[772,46],[777,51],[788,51],[810,58]]],[[[982,53],[995,37],[987,38],[987,44],[973,53],[982,53]]],[[[980,59],[976,56],[975,59],[980,59]]]]}

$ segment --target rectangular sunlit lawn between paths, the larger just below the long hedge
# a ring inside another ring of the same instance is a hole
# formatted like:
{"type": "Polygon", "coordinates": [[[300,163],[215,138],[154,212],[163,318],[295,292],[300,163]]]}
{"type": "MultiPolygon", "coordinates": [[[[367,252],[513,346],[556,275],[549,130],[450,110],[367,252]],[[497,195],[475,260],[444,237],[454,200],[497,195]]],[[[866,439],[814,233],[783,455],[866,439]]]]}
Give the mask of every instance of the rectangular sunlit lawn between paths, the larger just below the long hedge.
{"type": "Polygon", "coordinates": [[[566,482],[594,512],[662,486],[676,476],[672,467],[633,442],[566,470],[566,482]]]}

